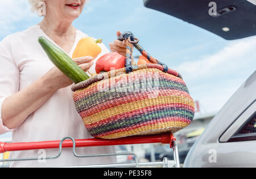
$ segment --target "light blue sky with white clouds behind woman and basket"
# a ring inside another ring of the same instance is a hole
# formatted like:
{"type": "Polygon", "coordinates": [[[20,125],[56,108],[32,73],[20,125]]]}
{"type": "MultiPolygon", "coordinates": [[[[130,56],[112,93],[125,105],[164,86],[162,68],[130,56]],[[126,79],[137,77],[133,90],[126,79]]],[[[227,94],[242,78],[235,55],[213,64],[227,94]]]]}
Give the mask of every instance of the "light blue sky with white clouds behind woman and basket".
{"type": "MultiPolygon", "coordinates": [[[[30,11],[26,0],[0,2],[5,3],[0,7],[0,40],[42,19],[30,11]]],[[[256,69],[255,36],[226,41],[145,8],[142,0],[90,0],[73,25],[106,45],[116,39],[117,30],[133,32],[152,56],[183,75],[202,113],[217,112],[256,69]]]]}

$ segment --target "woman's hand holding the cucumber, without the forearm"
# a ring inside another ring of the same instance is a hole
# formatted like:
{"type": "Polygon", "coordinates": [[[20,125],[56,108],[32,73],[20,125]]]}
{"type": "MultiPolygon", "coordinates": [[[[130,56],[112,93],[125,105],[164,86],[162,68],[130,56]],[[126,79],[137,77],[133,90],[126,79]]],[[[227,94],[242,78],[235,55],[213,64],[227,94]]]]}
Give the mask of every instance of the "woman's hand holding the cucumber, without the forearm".
{"type": "MultiPolygon", "coordinates": [[[[93,65],[92,57],[80,57],[73,59],[85,72],[93,65]]],[[[65,76],[57,67],[53,67],[44,75],[44,82],[48,84],[48,87],[53,91],[57,91],[61,88],[65,88],[73,84],[73,82],[65,76]]]]}

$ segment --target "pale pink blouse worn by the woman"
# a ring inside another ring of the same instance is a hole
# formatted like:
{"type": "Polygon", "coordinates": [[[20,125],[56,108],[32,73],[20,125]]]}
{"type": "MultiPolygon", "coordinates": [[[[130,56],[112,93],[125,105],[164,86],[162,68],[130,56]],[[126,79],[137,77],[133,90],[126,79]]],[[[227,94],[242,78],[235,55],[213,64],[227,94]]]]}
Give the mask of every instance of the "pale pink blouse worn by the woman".
{"type": "MultiPolygon", "coordinates": [[[[49,61],[38,42],[39,36],[45,36],[52,41],[39,25],[34,25],[26,31],[7,36],[0,42],[0,134],[13,131],[13,142],[61,140],[67,136],[75,139],[92,138],[76,111],[71,87],[57,91],[17,129],[10,130],[3,126],[1,111],[6,97],[23,90],[53,67],[53,63],[49,61]]],[[[81,31],[76,31],[76,40],[69,56],[72,56],[77,43],[84,37],[88,36],[81,31]]],[[[98,57],[109,52],[104,44],[100,44],[100,46],[102,52],[98,57]]],[[[95,73],[94,69],[95,63],[89,70],[90,73],[95,73]]],[[[79,155],[108,154],[114,153],[115,148],[109,146],[86,147],[77,148],[76,152],[79,155]]],[[[39,150],[11,152],[10,158],[41,157],[43,153],[39,150]]],[[[45,154],[47,157],[56,156],[58,150],[46,150],[45,154]]],[[[115,157],[78,159],[73,156],[71,148],[65,148],[59,159],[46,160],[46,163],[42,163],[42,161],[15,161],[11,163],[11,167],[65,167],[114,163],[115,160],[115,157]]]]}

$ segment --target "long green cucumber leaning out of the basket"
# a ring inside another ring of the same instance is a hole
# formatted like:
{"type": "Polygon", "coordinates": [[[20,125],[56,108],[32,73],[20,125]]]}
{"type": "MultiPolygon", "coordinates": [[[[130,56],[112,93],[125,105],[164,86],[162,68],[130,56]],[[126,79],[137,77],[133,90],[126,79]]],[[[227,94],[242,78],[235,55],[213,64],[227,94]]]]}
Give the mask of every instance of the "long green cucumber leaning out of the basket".
{"type": "Polygon", "coordinates": [[[80,83],[89,78],[63,50],[52,44],[46,37],[39,37],[39,43],[52,63],[74,83],[80,83]]]}

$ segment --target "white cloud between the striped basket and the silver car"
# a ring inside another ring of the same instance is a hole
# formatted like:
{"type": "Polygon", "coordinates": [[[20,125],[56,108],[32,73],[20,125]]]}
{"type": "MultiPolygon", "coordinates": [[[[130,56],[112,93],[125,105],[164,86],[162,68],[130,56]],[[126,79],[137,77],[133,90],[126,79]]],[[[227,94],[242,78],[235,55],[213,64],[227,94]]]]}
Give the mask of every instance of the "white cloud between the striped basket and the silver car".
{"type": "Polygon", "coordinates": [[[187,82],[204,113],[217,112],[256,70],[256,36],[231,41],[217,53],[186,61],[174,69],[187,82]]]}

